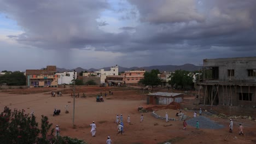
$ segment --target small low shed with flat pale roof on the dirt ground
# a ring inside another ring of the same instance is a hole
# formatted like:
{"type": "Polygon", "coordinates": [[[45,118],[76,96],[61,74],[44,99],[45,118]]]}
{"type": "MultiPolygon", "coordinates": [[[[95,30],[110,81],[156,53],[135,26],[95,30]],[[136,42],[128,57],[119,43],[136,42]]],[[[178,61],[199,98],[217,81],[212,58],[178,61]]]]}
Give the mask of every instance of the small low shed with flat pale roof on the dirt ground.
{"type": "Polygon", "coordinates": [[[147,94],[147,104],[152,105],[168,105],[173,101],[181,103],[183,101],[183,93],[167,93],[167,92],[156,92],[147,94]]]}

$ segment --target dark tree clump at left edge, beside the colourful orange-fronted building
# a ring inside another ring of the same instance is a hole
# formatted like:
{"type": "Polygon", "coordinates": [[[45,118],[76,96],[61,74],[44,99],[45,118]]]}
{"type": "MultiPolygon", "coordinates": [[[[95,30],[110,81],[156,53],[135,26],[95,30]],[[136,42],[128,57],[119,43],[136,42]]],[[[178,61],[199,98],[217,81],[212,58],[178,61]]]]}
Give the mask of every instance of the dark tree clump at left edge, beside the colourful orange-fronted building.
{"type": "Polygon", "coordinates": [[[0,84],[7,84],[8,86],[25,86],[26,76],[20,71],[14,71],[13,73],[7,73],[0,76],[0,84]]]}

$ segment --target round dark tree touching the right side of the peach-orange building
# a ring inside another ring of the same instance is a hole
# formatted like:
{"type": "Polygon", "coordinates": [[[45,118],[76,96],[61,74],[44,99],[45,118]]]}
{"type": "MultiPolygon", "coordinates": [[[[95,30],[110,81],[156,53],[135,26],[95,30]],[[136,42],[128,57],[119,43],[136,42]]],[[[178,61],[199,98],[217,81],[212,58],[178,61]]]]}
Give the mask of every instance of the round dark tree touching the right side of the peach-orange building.
{"type": "Polygon", "coordinates": [[[139,83],[144,86],[150,86],[153,90],[153,87],[161,85],[161,79],[158,77],[158,74],[160,74],[158,69],[153,69],[150,72],[146,71],[144,79],[139,80],[139,83]]]}

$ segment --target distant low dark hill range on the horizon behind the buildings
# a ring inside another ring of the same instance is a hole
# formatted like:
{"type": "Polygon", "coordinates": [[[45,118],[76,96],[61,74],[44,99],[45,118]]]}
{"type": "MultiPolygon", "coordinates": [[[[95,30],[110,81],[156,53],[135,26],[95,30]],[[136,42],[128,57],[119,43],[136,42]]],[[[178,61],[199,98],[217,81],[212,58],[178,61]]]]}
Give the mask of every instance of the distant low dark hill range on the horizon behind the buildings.
{"type": "MultiPolygon", "coordinates": [[[[146,71],[150,71],[152,69],[159,69],[159,71],[167,71],[167,72],[171,72],[171,71],[175,71],[178,69],[181,70],[188,70],[188,71],[195,71],[195,70],[199,70],[201,69],[202,66],[196,66],[194,64],[183,64],[183,65],[153,65],[150,67],[131,67],[131,68],[124,68],[124,67],[120,67],[119,66],[119,72],[123,72],[126,70],[141,70],[144,69],[146,71]]],[[[101,68],[104,70],[110,70],[110,67],[105,67],[105,68],[101,68]]],[[[65,69],[65,68],[57,68],[57,71],[59,71],[60,73],[63,71],[77,71],[78,73],[80,73],[81,71],[97,71],[98,69],[94,69],[94,68],[90,68],[90,69],[83,69],[83,68],[75,68],[75,69],[65,69]]]]}

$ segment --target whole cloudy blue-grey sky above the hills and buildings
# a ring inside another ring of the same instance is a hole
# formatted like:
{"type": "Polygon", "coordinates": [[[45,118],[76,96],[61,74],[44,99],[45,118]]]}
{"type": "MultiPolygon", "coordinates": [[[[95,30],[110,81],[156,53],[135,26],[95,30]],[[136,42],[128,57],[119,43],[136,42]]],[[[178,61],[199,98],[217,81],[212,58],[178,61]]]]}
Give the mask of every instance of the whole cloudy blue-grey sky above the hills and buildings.
{"type": "Polygon", "coordinates": [[[256,56],[255,0],[0,0],[0,70],[256,56]]]}

